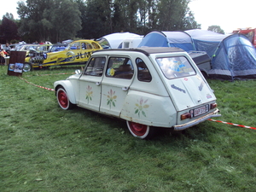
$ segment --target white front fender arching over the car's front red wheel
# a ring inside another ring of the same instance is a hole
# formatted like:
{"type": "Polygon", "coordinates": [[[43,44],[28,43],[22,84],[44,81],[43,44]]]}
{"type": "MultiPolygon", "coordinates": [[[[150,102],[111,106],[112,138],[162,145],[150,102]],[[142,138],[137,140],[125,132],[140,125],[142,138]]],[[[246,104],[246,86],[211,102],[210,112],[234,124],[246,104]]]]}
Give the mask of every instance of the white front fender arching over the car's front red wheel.
{"type": "Polygon", "coordinates": [[[56,81],[55,84],[55,95],[57,93],[57,90],[59,88],[63,88],[64,90],[67,91],[67,96],[70,102],[72,102],[73,104],[77,104],[77,100],[76,100],[76,94],[75,91],[73,89],[73,84],[71,84],[70,81],[56,81]]]}

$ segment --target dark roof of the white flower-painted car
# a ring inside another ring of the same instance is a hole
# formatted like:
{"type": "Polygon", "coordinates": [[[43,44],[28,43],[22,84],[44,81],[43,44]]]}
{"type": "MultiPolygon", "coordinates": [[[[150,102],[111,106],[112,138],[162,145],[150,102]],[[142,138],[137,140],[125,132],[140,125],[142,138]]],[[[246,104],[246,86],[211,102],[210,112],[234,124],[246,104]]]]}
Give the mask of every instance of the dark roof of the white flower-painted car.
{"type": "Polygon", "coordinates": [[[145,55],[169,53],[169,52],[185,52],[183,49],[176,48],[176,47],[143,47],[143,48],[131,48],[131,49],[100,49],[100,50],[94,51],[94,53],[113,52],[114,54],[117,51],[119,52],[135,51],[135,52],[141,52],[145,55]]]}

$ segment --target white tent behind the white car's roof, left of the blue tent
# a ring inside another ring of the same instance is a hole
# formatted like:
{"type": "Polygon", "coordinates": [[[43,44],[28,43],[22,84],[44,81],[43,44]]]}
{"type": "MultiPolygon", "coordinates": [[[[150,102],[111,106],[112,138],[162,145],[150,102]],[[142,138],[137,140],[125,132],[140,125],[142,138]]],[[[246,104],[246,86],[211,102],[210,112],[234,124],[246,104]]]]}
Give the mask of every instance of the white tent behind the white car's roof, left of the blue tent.
{"type": "Polygon", "coordinates": [[[131,32],[115,32],[105,35],[102,38],[97,39],[97,41],[102,45],[103,49],[117,49],[126,38],[132,37],[139,37],[139,35],[131,32]]]}

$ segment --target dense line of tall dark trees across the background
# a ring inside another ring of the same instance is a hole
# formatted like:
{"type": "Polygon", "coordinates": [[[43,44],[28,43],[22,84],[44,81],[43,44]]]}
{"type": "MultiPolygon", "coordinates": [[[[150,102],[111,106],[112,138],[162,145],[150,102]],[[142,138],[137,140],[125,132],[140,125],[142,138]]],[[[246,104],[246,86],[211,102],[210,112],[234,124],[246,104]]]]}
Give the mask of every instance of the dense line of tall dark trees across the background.
{"type": "Polygon", "coordinates": [[[201,28],[189,9],[191,0],[26,0],[17,3],[19,20],[6,14],[0,40],[20,37],[61,42],[101,38],[113,32],[144,35],[152,30],[184,31],[201,28]]]}

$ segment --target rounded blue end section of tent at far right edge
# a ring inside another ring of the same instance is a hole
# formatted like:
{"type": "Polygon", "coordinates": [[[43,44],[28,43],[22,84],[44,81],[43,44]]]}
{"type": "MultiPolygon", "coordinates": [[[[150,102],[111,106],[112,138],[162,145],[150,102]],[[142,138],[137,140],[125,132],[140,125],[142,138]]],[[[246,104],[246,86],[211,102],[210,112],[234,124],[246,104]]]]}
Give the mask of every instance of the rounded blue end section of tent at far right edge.
{"type": "Polygon", "coordinates": [[[214,79],[256,79],[256,49],[242,34],[224,38],[212,56],[208,74],[214,79]]]}

